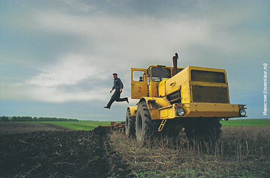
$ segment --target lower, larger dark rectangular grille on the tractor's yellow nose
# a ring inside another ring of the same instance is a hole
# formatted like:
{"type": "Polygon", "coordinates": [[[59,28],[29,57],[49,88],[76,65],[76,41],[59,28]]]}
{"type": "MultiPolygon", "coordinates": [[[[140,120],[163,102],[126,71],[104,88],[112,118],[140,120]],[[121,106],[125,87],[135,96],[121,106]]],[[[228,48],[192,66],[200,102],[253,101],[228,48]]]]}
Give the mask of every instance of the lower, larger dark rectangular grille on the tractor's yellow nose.
{"type": "Polygon", "coordinates": [[[192,86],[194,103],[229,103],[228,88],[192,86]]]}

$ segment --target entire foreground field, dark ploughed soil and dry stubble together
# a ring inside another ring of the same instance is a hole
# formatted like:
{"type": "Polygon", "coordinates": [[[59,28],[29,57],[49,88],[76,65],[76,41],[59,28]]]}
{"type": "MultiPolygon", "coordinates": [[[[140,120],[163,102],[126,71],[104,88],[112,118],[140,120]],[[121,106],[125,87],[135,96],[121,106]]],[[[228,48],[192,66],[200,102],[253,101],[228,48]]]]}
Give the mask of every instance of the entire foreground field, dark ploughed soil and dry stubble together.
{"type": "Polygon", "coordinates": [[[184,133],[141,144],[25,124],[0,123],[0,178],[270,178],[269,126],[223,127],[214,144],[184,133]]]}

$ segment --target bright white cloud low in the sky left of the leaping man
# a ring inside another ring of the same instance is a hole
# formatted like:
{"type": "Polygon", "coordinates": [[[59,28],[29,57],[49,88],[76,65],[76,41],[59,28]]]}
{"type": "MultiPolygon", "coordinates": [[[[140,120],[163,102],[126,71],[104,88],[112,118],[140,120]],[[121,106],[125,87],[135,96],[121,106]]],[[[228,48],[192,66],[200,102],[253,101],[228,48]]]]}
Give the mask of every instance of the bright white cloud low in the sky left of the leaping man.
{"type": "MultiPolygon", "coordinates": [[[[87,57],[68,55],[41,72],[20,83],[3,85],[6,96],[17,100],[62,103],[67,101],[105,100],[108,87],[102,85],[105,76],[92,66],[87,57]]],[[[9,98],[9,99],[10,99],[9,98]]]]}

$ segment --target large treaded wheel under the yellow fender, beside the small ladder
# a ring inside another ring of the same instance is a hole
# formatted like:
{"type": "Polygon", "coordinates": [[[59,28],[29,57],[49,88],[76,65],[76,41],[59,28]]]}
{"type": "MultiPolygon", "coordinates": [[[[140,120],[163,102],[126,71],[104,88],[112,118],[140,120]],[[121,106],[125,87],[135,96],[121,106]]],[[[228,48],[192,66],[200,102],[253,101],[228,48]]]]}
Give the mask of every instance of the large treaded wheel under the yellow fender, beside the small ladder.
{"type": "Polygon", "coordinates": [[[154,121],[151,118],[146,102],[140,102],[136,114],[136,138],[137,141],[142,142],[148,136],[158,133],[160,120],[154,121]]]}

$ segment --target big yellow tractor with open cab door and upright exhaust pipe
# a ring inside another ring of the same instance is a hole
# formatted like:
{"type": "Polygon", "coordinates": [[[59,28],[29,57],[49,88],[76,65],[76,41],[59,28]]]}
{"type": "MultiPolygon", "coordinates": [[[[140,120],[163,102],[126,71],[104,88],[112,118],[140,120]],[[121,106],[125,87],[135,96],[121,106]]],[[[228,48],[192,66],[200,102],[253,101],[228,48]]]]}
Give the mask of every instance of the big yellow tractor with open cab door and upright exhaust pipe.
{"type": "Polygon", "coordinates": [[[177,136],[182,129],[189,138],[218,138],[219,121],[246,117],[245,106],[230,104],[224,69],[150,66],[131,68],[131,98],[137,106],[128,107],[126,134],[143,141],[149,135],[177,136]]]}

